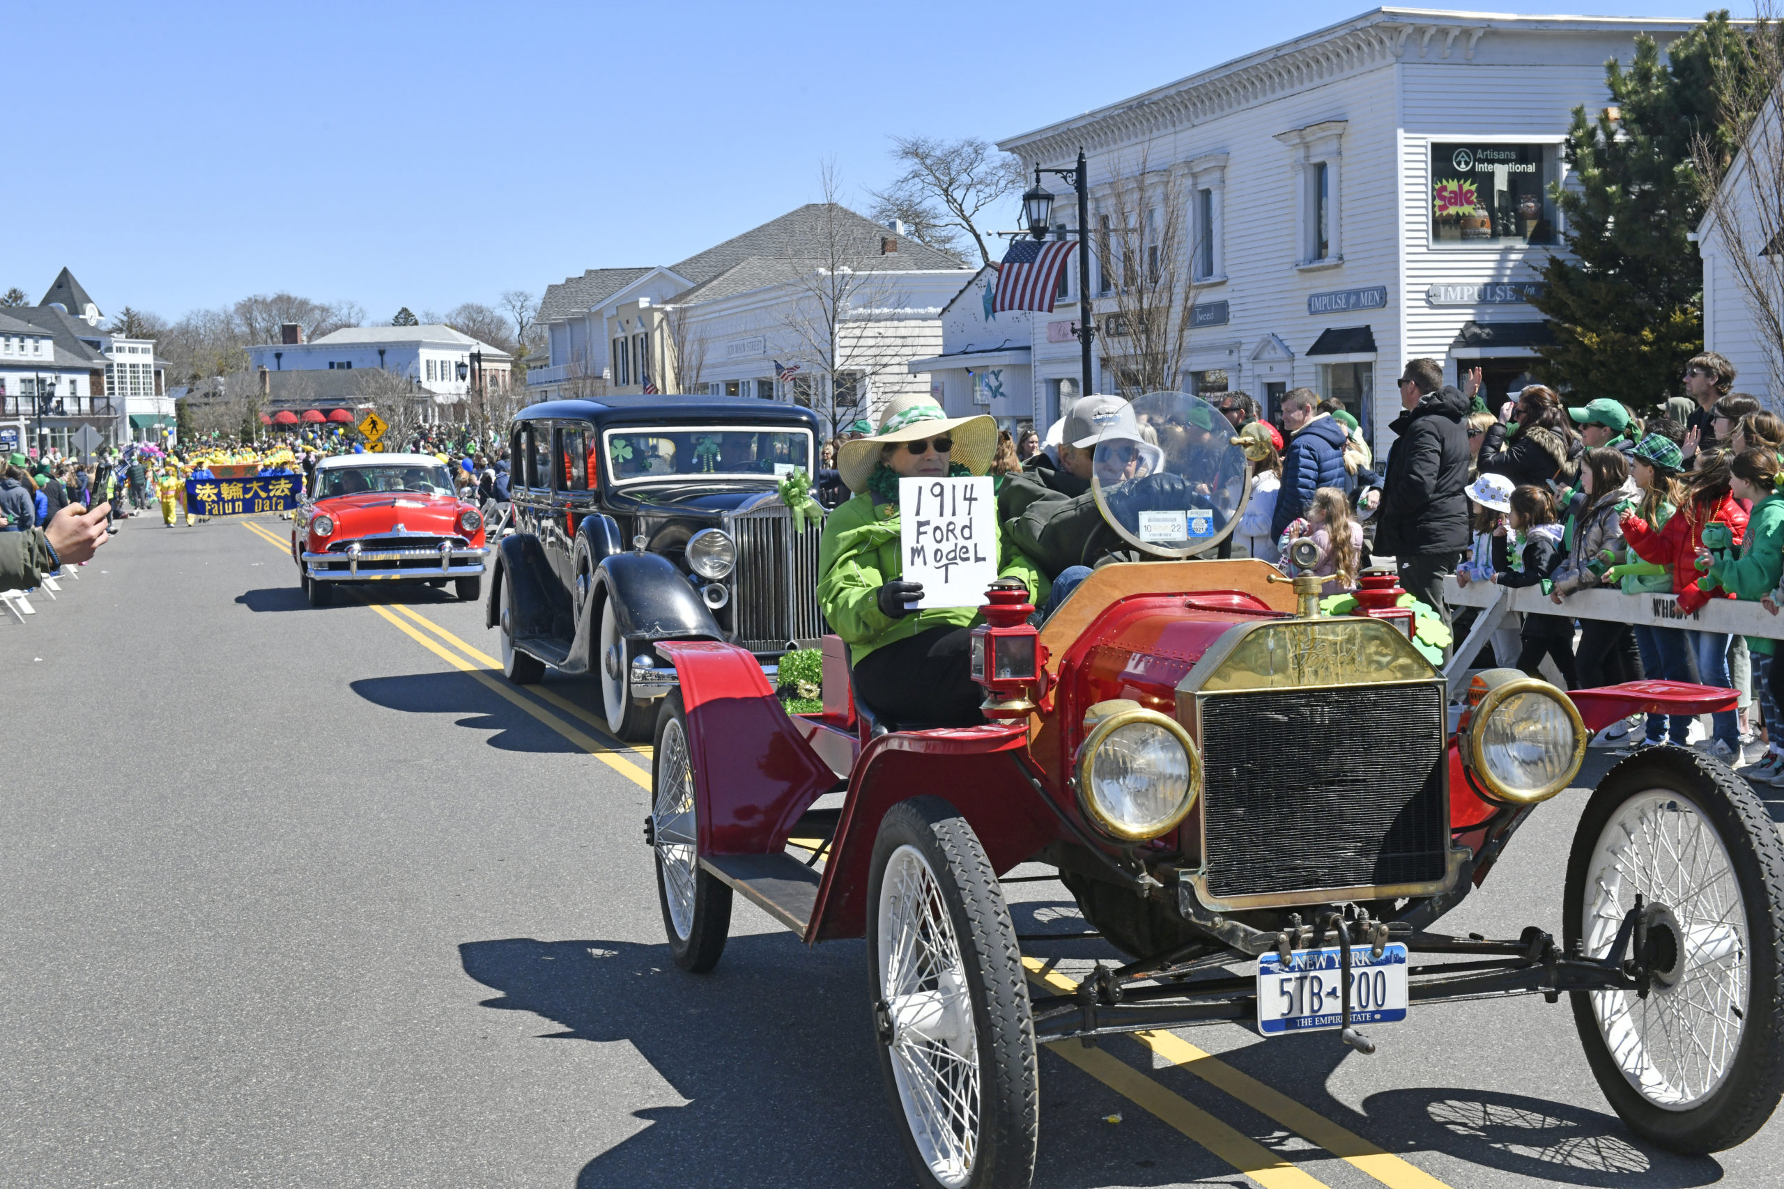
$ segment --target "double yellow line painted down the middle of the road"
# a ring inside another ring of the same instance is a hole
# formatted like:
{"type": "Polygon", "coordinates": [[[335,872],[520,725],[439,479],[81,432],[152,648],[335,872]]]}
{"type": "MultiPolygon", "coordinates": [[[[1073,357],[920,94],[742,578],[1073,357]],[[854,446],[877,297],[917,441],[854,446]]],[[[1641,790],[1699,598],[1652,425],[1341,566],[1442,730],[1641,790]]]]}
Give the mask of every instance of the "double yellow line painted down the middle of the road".
{"type": "MultiPolygon", "coordinates": [[[[257,537],[289,556],[291,544],[282,540],[275,531],[252,521],[244,521],[243,528],[253,531],[257,537]]],[[[501,663],[496,658],[471,647],[412,608],[401,604],[380,606],[376,603],[366,603],[364,599],[362,603],[394,624],[398,631],[412,638],[416,644],[428,649],[492,693],[526,711],[544,726],[551,727],[560,736],[614,768],[626,779],[646,790],[651,786],[649,770],[639,767],[628,754],[624,754],[630,750],[649,758],[648,747],[626,749],[626,745],[607,734],[605,722],[542,685],[526,686],[526,692],[523,693],[501,676],[501,663]],[[437,636],[437,640],[434,636],[437,636]],[[551,709],[546,709],[546,706],[541,706],[539,701],[533,701],[535,697],[549,704],[551,709]],[[591,731],[580,729],[566,717],[589,726],[591,731]]],[[[815,845],[815,840],[812,840],[812,843],[815,845]]],[[[1024,957],[1022,964],[1028,968],[1029,980],[1045,986],[1056,995],[1072,995],[1078,991],[1076,982],[1040,959],[1024,957]]],[[[1317,1148],[1324,1148],[1361,1173],[1367,1173],[1388,1189],[1449,1189],[1449,1185],[1424,1169],[1402,1160],[1392,1152],[1384,1152],[1381,1146],[1340,1127],[1338,1123],[1333,1123],[1311,1107],[1295,1102],[1288,1095],[1260,1082],[1249,1073],[1235,1070],[1172,1032],[1135,1032],[1131,1039],[1147,1048],[1151,1055],[1161,1057],[1169,1064],[1186,1070],[1202,1082],[1208,1082],[1215,1089],[1220,1089],[1252,1111],[1295,1132],[1317,1148]]],[[[1188,1136],[1210,1153],[1226,1160],[1265,1189],[1327,1189],[1324,1182],[1302,1171],[1281,1153],[1265,1148],[1251,1136],[1235,1128],[1231,1123],[1215,1118],[1202,1107],[1192,1103],[1188,1098],[1167,1089],[1144,1070],[1127,1064],[1106,1048],[1085,1048],[1078,1041],[1061,1041],[1058,1045],[1051,1045],[1049,1048],[1119,1093],[1122,1098],[1127,1098],[1149,1114],[1158,1116],[1158,1119],[1169,1127],[1188,1136]]]]}

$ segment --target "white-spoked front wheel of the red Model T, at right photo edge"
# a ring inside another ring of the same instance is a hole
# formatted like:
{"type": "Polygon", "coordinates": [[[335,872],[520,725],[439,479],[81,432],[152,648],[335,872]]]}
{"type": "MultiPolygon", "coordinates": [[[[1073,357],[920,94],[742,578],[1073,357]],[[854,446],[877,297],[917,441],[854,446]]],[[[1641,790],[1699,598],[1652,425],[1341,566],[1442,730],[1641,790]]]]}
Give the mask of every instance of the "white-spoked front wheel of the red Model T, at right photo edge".
{"type": "Polygon", "coordinates": [[[1650,988],[1572,995],[1586,1057],[1645,1139],[1732,1148],[1784,1095],[1784,845],[1745,781],[1675,747],[1606,775],[1573,834],[1566,941],[1607,955],[1638,893],[1650,988]]]}

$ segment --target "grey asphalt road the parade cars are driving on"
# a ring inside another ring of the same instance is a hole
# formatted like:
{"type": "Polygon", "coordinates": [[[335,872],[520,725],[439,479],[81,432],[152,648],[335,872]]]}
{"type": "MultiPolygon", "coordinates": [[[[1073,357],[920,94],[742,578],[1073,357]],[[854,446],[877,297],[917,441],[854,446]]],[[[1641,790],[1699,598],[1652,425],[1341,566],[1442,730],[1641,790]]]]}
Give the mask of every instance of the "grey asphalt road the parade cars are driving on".
{"type": "MultiPolygon", "coordinates": [[[[719,970],[676,972],[648,758],[603,750],[591,686],[492,677],[478,604],[310,610],[244,522],[139,517],[37,606],[0,624],[0,1185],[913,1184],[863,947],[739,900],[719,970]]],[[[1445,925],[1559,932],[1582,804],[1445,925]]],[[[1010,891],[1024,932],[1083,927],[1056,884],[1010,891]]],[[[1777,1119],[1714,1159],[1634,1141],[1565,1004],[1374,1034],[1044,1052],[1037,1184],[1784,1178],[1777,1119]]]]}

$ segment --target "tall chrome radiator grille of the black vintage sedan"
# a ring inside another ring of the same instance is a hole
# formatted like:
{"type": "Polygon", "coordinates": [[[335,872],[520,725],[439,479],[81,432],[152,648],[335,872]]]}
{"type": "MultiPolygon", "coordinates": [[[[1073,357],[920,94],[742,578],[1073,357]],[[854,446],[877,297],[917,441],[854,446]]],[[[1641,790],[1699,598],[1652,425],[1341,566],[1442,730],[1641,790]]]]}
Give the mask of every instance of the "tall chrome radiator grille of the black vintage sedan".
{"type": "Polygon", "coordinates": [[[792,529],[780,497],[756,501],[726,517],[737,542],[737,569],[728,579],[735,644],[751,652],[785,652],[789,644],[817,647],[830,631],[817,608],[817,544],[821,524],[792,529]]]}

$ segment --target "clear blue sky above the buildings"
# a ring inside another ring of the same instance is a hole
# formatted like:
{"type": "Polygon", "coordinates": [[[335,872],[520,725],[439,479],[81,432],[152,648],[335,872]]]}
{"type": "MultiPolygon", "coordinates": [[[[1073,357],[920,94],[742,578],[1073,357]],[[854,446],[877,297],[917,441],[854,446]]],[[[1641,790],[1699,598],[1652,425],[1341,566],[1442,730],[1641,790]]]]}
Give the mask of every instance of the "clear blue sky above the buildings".
{"type": "Polygon", "coordinates": [[[865,205],[892,134],[1012,135],[1367,7],[20,4],[39,102],[12,105],[0,289],[66,264],[107,314],[494,305],[814,201],[826,155],[865,205]]]}

